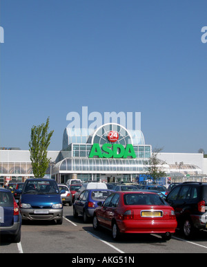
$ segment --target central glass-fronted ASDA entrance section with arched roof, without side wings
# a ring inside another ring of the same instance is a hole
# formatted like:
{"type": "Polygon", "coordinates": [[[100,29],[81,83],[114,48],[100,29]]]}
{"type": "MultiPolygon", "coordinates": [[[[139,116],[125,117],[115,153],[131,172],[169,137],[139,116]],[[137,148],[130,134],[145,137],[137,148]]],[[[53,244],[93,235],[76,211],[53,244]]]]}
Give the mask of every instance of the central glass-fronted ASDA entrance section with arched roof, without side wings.
{"type": "Polygon", "coordinates": [[[82,181],[135,181],[146,172],[151,146],[140,130],[130,131],[116,123],[101,125],[95,131],[66,128],[63,149],[52,167],[56,181],[69,178],[82,181]]]}

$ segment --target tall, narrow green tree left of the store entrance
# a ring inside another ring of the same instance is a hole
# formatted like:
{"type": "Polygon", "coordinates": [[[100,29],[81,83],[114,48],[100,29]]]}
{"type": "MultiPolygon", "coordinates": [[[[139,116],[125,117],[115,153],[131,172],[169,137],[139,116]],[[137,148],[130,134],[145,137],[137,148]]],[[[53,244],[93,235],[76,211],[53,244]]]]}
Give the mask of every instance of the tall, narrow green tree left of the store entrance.
{"type": "Polygon", "coordinates": [[[31,139],[29,142],[30,147],[30,160],[32,161],[32,170],[34,177],[43,177],[48,169],[50,159],[48,158],[48,145],[50,145],[50,139],[53,131],[48,133],[49,129],[49,117],[46,124],[33,125],[31,129],[31,139]]]}

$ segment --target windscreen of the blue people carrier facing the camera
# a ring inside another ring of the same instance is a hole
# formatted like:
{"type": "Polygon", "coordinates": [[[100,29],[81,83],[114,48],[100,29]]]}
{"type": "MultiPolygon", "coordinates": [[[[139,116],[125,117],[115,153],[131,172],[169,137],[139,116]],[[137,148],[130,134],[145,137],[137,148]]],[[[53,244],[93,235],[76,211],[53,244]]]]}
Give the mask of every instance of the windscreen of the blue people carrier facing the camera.
{"type": "Polygon", "coordinates": [[[59,188],[55,181],[26,181],[23,194],[59,194],[59,188]]]}

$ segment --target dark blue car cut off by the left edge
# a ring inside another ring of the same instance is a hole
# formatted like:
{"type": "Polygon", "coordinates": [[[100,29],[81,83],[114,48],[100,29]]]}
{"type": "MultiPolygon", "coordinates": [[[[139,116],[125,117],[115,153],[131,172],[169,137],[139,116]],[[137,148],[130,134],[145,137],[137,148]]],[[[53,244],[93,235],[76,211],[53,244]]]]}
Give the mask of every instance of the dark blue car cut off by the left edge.
{"type": "Polygon", "coordinates": [[[21,214],[10,190],[0,188],[0,235],[9,234],[14,243],[21,240],[21,214]]]}

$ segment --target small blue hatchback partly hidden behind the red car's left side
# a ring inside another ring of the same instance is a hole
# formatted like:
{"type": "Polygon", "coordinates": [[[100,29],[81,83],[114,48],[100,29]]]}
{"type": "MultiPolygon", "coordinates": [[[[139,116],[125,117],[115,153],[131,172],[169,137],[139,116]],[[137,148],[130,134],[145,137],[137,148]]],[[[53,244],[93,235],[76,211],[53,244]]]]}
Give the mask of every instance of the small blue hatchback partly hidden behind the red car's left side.
{"type": "Polygon", "coordinates": [[[95,208],[97,208],[98,202],[103,202],[110,196],[114,190],[108,189],[91,189],[84,190],[79,195],[78,199],[73,203],[73,217],[77,218],[79,214],[83,215],[84,223],[88,222],[88,219],[92,218],[95,208]]]}

